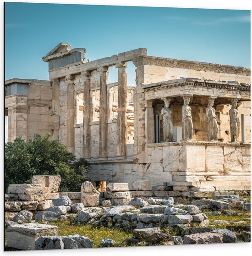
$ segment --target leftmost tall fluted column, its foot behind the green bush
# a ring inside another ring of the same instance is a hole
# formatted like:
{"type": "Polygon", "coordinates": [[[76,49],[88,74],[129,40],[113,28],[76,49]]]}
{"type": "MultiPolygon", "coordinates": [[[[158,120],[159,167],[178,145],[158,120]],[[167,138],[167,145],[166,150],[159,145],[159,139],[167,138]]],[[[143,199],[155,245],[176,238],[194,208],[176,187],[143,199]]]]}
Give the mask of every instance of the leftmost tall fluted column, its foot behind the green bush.
{"type": "Polygon", "coordinates": [[[66,123],[66,141],[70,152],[74,154],[74,77],[67,75],[67,123],[66,123]]]}

